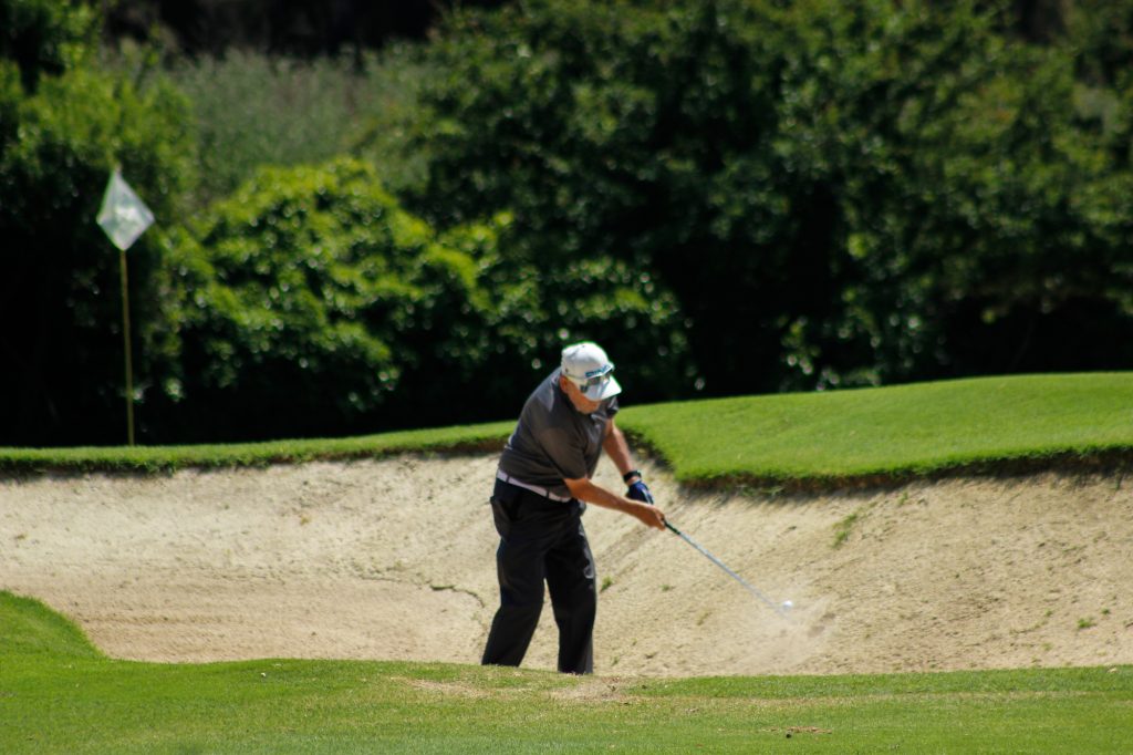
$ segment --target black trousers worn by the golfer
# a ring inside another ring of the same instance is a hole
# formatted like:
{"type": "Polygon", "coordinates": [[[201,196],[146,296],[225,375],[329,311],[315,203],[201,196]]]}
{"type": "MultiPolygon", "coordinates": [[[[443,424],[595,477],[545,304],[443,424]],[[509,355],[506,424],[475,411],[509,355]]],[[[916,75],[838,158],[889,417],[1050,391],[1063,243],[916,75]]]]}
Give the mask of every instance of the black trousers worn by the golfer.
{"type": "Polygon", "coordinates": [[[559,625],[559,670],[594,672],[594,618],[598,593],[594,555],[579,501],[552,501],[496,481],[492,515],[500,548],[500,609],[492,620],[484,664],[519,665],[543,610],[543,583],[559,625]]]}

